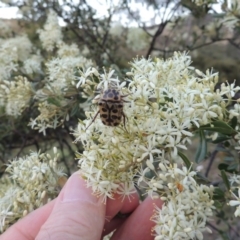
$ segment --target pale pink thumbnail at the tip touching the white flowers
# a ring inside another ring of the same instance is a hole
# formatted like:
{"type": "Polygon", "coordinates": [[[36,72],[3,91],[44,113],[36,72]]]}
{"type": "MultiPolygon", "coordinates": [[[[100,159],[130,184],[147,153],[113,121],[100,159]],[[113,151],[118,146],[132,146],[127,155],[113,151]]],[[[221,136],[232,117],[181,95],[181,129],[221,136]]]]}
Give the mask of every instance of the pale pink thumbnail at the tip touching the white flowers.
{"type": "Polygon", "coordinates": [[[92,194],[92,189],[86,187],[85,180],[79,172],[74,173],[67,181],[63,192],[63,202],[85,201],[97,203],[101,198],[92,194]]]}

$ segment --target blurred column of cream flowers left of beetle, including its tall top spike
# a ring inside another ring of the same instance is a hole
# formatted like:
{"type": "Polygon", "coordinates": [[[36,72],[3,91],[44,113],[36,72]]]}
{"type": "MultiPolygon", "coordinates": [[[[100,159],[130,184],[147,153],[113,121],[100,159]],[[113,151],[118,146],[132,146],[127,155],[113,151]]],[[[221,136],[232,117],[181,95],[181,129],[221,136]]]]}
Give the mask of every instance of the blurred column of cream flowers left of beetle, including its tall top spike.
{"type": "Polygon", "coordinates": [[[74,104],[77,104],[76,98],[80,95],[75,86],[78,71],[94,64],[80,55],[76,44],[67,45],[61,40],[61,28],[56,13],[49,12],[44,30],[39,32],[43,45],[47,44],[49,51],[53,46],[57,50],[56,56],[45,63],[46,84],[34,96],[38,102],[36,106],[39,114],[29,122],[31,128],[46,135],[47,128],[55,129],[69,119],[69,112],[74,104]]]}

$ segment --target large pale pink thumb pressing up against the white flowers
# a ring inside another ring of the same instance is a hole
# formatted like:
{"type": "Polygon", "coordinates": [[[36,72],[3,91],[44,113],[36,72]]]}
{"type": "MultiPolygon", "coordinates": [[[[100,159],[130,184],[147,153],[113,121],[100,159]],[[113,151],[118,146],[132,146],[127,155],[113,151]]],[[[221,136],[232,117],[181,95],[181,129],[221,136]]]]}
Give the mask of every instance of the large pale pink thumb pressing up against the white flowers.
{"type": "Polygon", "coordinates": [[[99,240],[105,220],[106,205],[92,195],[79,172],[73,174],[59,194],[48,220],[36,240],[99,240]]]}

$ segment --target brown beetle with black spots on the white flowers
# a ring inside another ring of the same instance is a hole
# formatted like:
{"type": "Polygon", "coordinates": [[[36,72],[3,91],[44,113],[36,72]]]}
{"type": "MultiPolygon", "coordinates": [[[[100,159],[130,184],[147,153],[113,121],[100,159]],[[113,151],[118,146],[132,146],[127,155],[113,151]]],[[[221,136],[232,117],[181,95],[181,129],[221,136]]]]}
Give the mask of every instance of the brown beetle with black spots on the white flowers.
{"type": "Polygon", "coordinates": [[[102,92],[98,101],[98,112],[95,114],[93,120],[88,125],[89,126],[95,121],[98,114],[100,114],[100,119],[102,123],[106,126],[116,127],[118,126],[123,118],[123,125],[126,129],[126,115],[123,112],[123,103],[128,102],[123,98],[127,95],[121,95],[120,91],[117,89],[107,89],[102,92]]]}

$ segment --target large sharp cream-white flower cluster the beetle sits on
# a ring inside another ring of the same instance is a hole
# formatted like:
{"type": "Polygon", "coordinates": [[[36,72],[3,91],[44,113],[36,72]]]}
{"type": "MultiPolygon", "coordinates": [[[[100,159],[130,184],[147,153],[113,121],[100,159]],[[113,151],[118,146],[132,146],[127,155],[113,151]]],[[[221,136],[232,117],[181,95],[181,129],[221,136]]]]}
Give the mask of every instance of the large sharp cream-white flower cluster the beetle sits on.
{"type": "MultiPolygon", "coordinates": [[[[101,92],[114,87],[127,95],[123,102],[126,126],[109,127],[99,117],[90,124],[98,111],[93,108],[74,132],[75,141],[84,146],[78,159],[87,185],[106,199],[114,192],[128,195],[138,177],[138,185],[144,182],[149,195],[165,197],[163,213],[155,218],[156,232],[164,232],[169,239],[202,239],[201,232],[212,214],[212,188],[198,185],[193,179],[196,172],[174,163],[182,161],[179,150],[187,149],[200,126],[213,120],[229,121],[227,107],[239,90],[229,84],[215,90],[218,74],[204,74],[190,64],[187,54],[176,52],[165,61],[136,59],[127,73],[129,79],[123,82],[113,71],[101,74],[91,68],[82,73],[78,83],[85,93],[94,87],[101,92]],[[178,212],[173,227],[163,229],[161,224],[168,219],[169,226],[171,216],[178,212]]],[[[102,93],[95,102],[101,97],[102,93]]]]}

